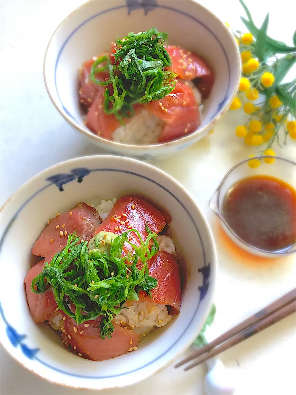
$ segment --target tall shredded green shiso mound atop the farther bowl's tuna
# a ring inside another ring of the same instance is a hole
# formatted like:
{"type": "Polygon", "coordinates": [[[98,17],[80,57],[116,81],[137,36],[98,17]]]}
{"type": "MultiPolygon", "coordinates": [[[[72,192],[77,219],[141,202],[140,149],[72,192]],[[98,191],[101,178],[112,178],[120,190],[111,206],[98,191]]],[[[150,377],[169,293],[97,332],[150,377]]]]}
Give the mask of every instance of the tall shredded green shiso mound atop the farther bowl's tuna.
{"type": "Polygon", "coordinates": [[[97,58],[91,68],[91,80],[98,85],[112,84],[104,91],[104,111],[114,114],[122,124],[123,118],[133,117],[133,105],[161,100],[175,88],[176,74],[165,71],[171,66],[171,58],[163,47],[167,33],[160,33],[156,28],[146,32],[129,33],[127,37],[116,41],[114,65],[107,56],[97,58]],[[106,62],[105,66],[101,66],[106,62]],[[96,73],[108,68],[108,81],[99,81],[96,73]]]}

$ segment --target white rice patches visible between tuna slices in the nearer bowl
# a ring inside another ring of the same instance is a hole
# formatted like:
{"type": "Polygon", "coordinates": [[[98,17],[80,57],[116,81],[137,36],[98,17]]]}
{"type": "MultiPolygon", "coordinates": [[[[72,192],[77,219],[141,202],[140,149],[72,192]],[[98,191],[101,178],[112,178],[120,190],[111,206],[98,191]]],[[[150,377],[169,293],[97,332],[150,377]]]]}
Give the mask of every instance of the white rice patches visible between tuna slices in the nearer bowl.
{"type": "MultiPolygon", "coordinates": [[[[115,202],[116,198],[102,200],[96,207],[102,219],[108,216],[115,202]]],[[[171,237],[159,235],[157,241],[159,243],[159,251],[175,254],[175,246],[171,237]]],[[[62,318],[61,314],[57,314],[49,324],[57,331],[63,325],[62,318]]],[[[120,313],[115,316],[114,322],[128,329],[132,329],[140,337],[143,337],[156,327],[159,328],[166,325],[171,318],[172,316],[167,311],[166,305],[135,302],[132,306],[122,308],[120,313]]]]}

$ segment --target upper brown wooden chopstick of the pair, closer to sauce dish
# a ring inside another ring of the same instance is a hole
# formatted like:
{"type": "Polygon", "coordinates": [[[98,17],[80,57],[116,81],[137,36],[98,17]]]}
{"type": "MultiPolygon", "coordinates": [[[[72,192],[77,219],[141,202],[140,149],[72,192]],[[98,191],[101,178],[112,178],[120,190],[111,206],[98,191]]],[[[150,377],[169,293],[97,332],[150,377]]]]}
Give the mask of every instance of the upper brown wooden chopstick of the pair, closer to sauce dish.
{"type": "MultiPolygon", "coordinates": [[[[212,342],[210,342],[206,346],[200,348],[199,350],[196,350],[194,353],[189,355],[189,357],[184,358],[182,361],[177,363],[175,365],[175,368],[178,368],[178,367],[184,365],[185,363],[187,363],[189,361],[192,361],[192,359],[195,359],[195,358],[199,357],[200,355],[202,355],[202,354],[204,354],[206,352],[209,352],[214,347],[219,346],[220,344],[226,342],[227,340],[230,340],[235,335],[238,335],[239,333],[241,333],[241,332],[247,330],[248,328],[250,328],[252,325],[257,324],[257,323],[261,322],[262,320],[265,320],[268,316],[274,314],[277,311],[281,311],[281,309],[283,307],[289,305],[290,303],[292,303],[294,301],[296,301],[296,288],[294,288],[294,290],[286,293],[284,296],[280,297],[279,299],[277,299],[276,301],[274,301],[270,305],[266,306],[265,308],[262,308],[262,310],[259,310],[258,312],[256,312],[255,314],[253,314],[252,316],[250,316],[249,318],[247,318],[246,320],[244,320],[240,324],[238,324],[235,327],[229,329],[229,331],[223,333],[223,335],[217,337],[215,340],[213,340],[212,342]]],[[[289,314],[292,314],[292,312],[289,313],[289,314]]],[[[279,318],[279,320],[281,320],[281,319],[282,318],[279,318]]],[[[275,321],[275,322],[277,322],[277,321],[275,321]]],[[[275,322],[273,322],[272,324],[275,324],[275,322]]],[[[272,325],[272,324],[270,324],[270,325],[272,325]]],[[[263,330],[263,329],[264,328],[262,328],[260,330],[263,330]]],[[[255,333],[258,333],[258,331],[255,332],[255,333]]],[[[250,335],[250,336],[252,336],[252,335],[250,335]]],[[[247,337],[243,338],[242,340],[244,340],[244,339],[247,339],[247,337]]],[[[235,343],[235,344],[237,344],[237,343],[235,343]]],[[[228,348],[232,347],[233,345],[229,346],[228,348]]],[[[223,351],[225,351],[225,350],[223,350],[223,351]]],[[[222,351],[220,351],[220,352],[222,352],[222,351]]],[[[215,355],[217,355],[217,354],[215,354],[215,355]]],[[[194,365],[194,366],[196,366],[196,365],[194,365]]]]}

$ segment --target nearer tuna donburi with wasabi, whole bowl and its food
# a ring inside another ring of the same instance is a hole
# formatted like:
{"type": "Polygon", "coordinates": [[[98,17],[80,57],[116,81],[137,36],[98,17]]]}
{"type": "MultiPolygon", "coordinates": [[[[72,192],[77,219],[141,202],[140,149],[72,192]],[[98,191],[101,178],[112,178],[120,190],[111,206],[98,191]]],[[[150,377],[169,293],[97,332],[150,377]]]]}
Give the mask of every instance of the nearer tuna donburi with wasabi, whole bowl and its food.
{"type": "Polygon", "coordinates": [[[161,170],[107,155],[69,160],[28,181],[0,219],[0,265],[14,284],[0,289],[0,341],[30,371],[63,386],[122,387],[198,335],[213,301],[213,236],[161,170]]]}

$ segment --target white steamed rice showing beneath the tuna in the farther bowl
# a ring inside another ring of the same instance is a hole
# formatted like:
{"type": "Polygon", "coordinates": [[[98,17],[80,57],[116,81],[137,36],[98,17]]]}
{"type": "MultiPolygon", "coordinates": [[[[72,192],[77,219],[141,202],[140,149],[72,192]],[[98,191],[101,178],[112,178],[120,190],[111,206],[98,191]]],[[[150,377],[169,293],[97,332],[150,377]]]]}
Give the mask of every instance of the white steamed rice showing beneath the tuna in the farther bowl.
{"type": "MultiPolygon", "coordinates": [[[[199,113],[202,115],[203,105],[201,104],[201,94],[192,81],[183,82],[192,88],[195,99],[199,103],[199,113]]],[[[133,145],[156,144],[165,125],[166,123],[163,120],[144,109],[127,125],[120,126],[120,128],[116,129],[113,133],[113,140],[118,143],[133,145]]]]}

